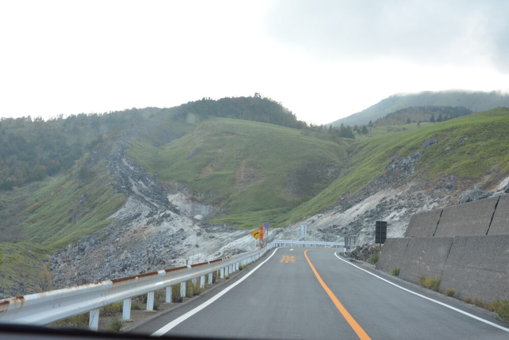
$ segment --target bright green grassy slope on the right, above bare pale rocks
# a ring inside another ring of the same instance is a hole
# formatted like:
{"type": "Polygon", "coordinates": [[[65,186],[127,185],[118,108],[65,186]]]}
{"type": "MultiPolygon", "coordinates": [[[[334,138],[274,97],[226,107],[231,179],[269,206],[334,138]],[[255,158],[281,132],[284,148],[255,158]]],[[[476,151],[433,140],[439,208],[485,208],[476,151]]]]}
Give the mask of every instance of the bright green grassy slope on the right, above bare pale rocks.
{"type": "MultiPolygon", "coordinates": [[[[409,125],[416,124],[405,126],[409,125]]],[[[423,156],[417,163],[416,174],[425,173],[430,179],[437,179],[441,174],[475,178],[489,170],[509,172],[508,131],[509,109],[498,108],[441,123],[427,123],[427,126],[421,123],[420,128],[365,139],[356,144],[359,151],[349,161],[345,175],[281,216],[279,223],[286,224],[317,213],[335,203],[341,195],[354,193],[383,174],[396,153],[408,156],[421,151],[423,156]],[[437,138],[438,143],[423,147],[422,142],[431,137],[437,138]],[[460,142],[464,137],[468,140],[460,142]],[[446,147],[450,149],[444,150],[446,147]]]]}

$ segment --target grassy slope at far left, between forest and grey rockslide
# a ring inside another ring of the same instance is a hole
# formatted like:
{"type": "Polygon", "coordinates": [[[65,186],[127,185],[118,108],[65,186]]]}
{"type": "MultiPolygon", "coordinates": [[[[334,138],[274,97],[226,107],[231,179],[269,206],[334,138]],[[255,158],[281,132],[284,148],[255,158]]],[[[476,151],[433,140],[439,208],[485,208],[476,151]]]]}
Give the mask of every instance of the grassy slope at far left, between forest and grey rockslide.
{"type": "Polygon", "coordinates": [[[39,291],[36,282],[44,277],[43,259],[111,222],[107,218],[125,198],[108,185],[112,180],[101,164],[91,171],[89,178],[61,174],[0,195],[7,206],[2,218],[10,222],[3,223],[0,231],[15,237],[0,242],[0,255],[16,257],[12,264],[0,266],[0,287],[9,289],[14,282],[24,282],[39,291]],[[80,204],[83,194],[87,200],[80,204]],[[72,215],[78,216],[74,222],[72,215]]]}

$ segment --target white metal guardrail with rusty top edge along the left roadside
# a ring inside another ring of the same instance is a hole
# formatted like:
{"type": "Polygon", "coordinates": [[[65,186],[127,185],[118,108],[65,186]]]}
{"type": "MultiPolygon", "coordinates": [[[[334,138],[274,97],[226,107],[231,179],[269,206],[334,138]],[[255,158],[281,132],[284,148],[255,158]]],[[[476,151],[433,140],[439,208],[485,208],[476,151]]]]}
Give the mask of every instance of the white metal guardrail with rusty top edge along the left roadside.
{"type": "Polygon", "coordinates": [[[122,319],[129,320],[131,299],[136,296],[148,294],[147,310],[153,310],[155,291],[166,289],[166,302],[172,302],[173,285],[180,284],[180,295],[185,297],[186,281],[196,282],[200,278],[200,286],[204,287],[206,276],[208,284],[211,284],[213,273],[224,278],[239,270],[240,265],[257,260],[269,249],[288,245],[337,247],[343,244],[276,240],[261,249],[201,264],[4,299],[0,300],[0,323],[47,325],[90,312],[89,328],[97,330],[100,308],[111,303],[123,301],[122,319]]]}

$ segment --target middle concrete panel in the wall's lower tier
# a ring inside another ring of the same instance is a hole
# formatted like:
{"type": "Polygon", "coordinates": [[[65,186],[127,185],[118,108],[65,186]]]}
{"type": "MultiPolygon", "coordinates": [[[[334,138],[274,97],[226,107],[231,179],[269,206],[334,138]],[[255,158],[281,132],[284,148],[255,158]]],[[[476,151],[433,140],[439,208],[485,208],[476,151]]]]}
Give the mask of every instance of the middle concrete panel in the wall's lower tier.
{"type": "Polygon", "coordinates": [[[410,238],[404,254],[400,277],[419,283],[419,276],[439,278],[453,238],[410,238]]]}

